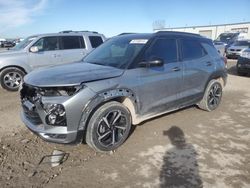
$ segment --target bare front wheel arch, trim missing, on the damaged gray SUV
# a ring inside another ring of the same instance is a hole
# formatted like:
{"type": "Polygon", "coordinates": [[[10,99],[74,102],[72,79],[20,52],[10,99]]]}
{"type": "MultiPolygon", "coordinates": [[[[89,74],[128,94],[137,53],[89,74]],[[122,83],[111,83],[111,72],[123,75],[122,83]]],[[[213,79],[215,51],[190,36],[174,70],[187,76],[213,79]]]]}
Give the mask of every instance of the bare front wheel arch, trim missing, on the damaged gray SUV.
{"type": "Polygon", "coordinates": [[[129,101],[132,102],[132,107],[127,106],[126,107],[130,110],[133,116],[137,113],[138,106],[137,106],[137,100],[135,97],[135,94],[133,91],[130,89],[122,89],[122,88],[117,88],[117,89],[112,89],[112,90],[107,90],[107,91],[102,91],[101,93],[97,94],[95,97],[93,97],[83,108],[82,111],[82,118],[78,127],[78,130],[85,130],[88,120],[91,117],[92,113],[101,106],[103,103],[110,101],[110,100],[118,100],[119,102],[126,101],[126,99],[129,99],[129,101]],[[122,99],[122,101],[120,100],[122,99]]]}

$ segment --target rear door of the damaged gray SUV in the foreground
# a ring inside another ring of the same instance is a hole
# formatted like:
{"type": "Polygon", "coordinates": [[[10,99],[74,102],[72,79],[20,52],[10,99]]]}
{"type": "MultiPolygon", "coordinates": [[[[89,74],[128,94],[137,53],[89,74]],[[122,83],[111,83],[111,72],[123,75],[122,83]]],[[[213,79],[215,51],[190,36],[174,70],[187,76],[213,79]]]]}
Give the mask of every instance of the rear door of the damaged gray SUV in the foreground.
{"type": "Polygon", "coordinates": [[[198,40],[181,39],[183,81],[180,96],[182,106],[193,104],[203,97],[206,82],[215,64],[198,40]]]}

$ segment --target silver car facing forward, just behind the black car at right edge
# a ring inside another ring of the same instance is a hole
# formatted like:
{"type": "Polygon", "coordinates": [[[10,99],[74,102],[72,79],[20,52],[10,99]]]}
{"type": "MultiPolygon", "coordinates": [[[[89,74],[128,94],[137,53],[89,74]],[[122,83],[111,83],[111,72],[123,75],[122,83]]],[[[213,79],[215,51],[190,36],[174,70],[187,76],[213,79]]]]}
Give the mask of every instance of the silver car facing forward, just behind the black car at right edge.
{"type": "Polygon", "coordinates": [[[237,59],[247,48],[250,48],[250,40],[236,41],[227,49],[226,56],[227,58],[237,59]]]}

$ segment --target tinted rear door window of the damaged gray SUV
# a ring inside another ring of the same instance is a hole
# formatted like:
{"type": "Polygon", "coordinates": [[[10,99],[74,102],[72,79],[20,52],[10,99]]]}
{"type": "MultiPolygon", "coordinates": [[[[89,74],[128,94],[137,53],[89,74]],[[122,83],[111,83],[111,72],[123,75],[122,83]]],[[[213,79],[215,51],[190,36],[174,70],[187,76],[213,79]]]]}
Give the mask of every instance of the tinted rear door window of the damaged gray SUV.
{"type": "Polygon", "coordinates": [[[182,57],[184,60],[197,59],[206,55],[201,44],[195,40],[182,40],[182,57]]]}

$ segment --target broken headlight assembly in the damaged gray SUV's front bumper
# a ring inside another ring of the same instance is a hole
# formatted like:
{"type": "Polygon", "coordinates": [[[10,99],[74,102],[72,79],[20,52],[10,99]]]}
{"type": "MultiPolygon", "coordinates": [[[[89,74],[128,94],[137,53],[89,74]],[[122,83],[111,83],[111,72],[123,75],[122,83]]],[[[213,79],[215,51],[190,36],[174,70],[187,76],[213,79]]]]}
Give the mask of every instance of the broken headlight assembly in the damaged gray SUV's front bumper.
{"type": "Polygon", "coordinates": [[[45,121],[48,125],[66,126],[66,112],[62,104],[44,104],[45,121]]]}

